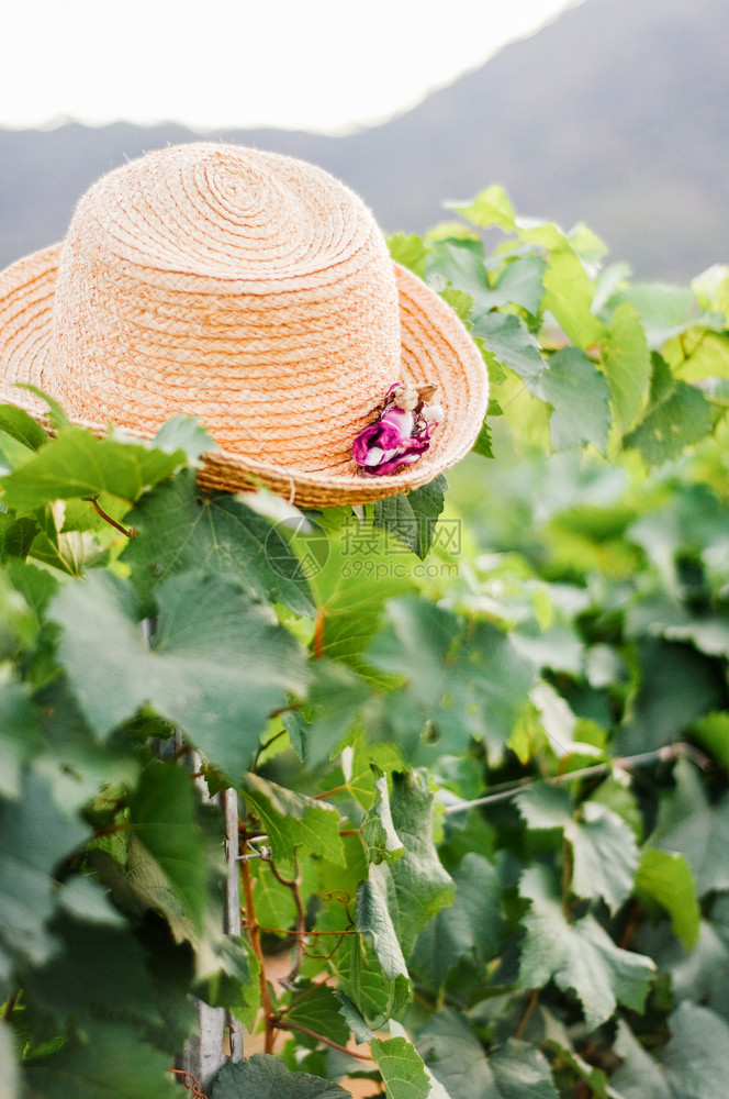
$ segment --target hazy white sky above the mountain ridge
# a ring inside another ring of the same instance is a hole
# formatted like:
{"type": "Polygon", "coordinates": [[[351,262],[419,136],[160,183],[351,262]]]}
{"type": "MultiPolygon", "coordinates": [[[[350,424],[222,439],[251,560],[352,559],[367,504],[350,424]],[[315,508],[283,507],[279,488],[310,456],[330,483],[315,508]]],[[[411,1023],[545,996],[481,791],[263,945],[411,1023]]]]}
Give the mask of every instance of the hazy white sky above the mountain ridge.
{"type": "Polygon", "coordinates": [[[575,0],[15,0],[0,125],[341,132],[415,106],[575,0]]]}

